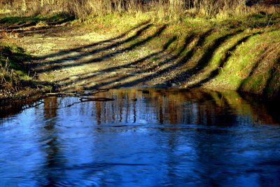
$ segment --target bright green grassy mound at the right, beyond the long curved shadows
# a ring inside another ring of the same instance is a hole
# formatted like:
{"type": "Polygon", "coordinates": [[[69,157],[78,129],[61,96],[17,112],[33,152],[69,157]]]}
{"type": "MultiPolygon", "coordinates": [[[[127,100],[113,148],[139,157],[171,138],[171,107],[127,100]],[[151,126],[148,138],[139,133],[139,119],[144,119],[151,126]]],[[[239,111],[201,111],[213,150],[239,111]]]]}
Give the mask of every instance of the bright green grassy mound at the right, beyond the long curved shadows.
{"type": "Polygon", "coordinates": [[[279,95],[280,31],[255,34],[237,46],[209,88],[279,95]]]}

